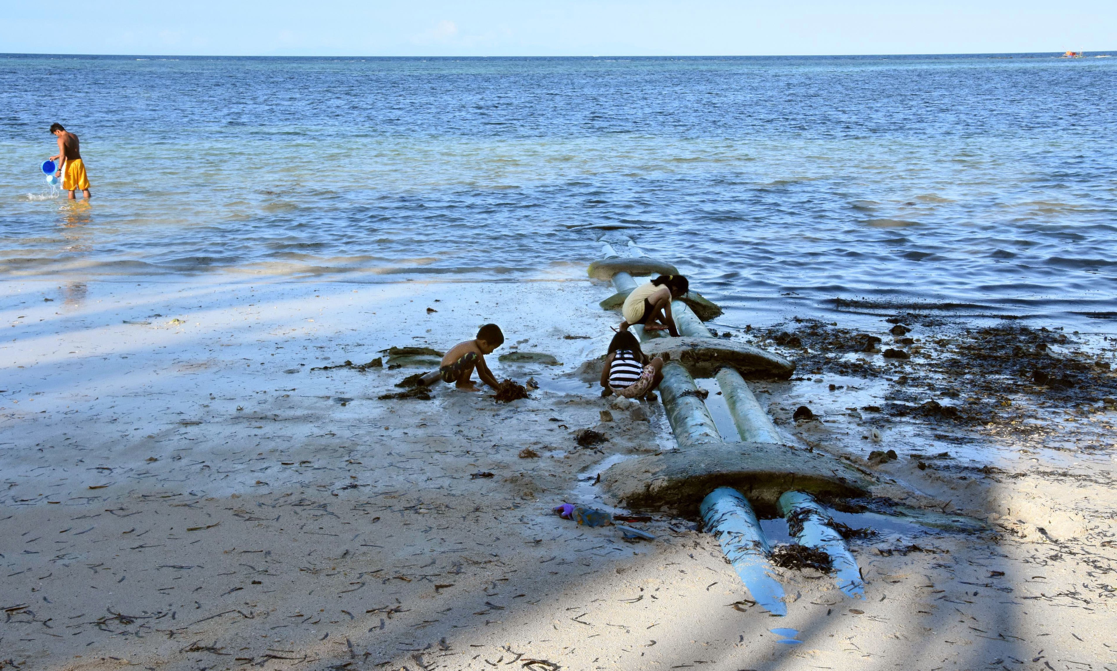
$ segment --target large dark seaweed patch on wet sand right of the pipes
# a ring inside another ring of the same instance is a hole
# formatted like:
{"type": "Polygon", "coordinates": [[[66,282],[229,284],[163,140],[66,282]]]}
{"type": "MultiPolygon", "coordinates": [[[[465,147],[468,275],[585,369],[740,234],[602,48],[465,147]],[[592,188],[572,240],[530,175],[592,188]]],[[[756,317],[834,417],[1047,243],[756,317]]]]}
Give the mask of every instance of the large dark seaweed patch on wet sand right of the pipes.
{"type": "MultiPolygon", "coordinates": [[[[1048,413],[1041,408],[1089,412],[1085,404],[1096,406],[1117,396],[1110,361],[1088,351],[1085,337],[1061,328],[1033,328],[1006,319],[975,327],[915,313],[882,322],[873,335],[796,318],[754,330],[751,339],[760,346],[794,349],[787,354],[809,377],[890,382],[884,403],[863,409],[880,413],[868,420],[870,425],[907,418],[1022,431],[1024,420],[1044,419],[1048,413]]],[[[832,385],[831,391],[836,389],[840,387],[832,385]]]]}

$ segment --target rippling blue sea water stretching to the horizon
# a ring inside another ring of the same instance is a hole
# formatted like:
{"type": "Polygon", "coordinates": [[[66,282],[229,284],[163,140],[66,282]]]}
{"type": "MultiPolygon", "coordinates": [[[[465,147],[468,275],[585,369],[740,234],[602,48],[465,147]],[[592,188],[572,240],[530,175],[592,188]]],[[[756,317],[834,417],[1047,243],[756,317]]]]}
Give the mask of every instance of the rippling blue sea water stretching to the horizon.
{"type": "Polygon", "coordinates": [[[0,274],[576,277],[631,239],[736,308],[1111,317],[1089,56],[0,56],[0,274]],[[55,121],[92,204],[42,198],[55,121]]]}

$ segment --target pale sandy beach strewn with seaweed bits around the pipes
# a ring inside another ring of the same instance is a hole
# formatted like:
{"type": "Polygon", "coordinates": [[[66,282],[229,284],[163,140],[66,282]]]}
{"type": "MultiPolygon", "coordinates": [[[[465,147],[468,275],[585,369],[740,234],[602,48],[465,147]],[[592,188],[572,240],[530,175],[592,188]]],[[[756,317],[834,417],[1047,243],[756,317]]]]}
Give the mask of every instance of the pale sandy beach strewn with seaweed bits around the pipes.
{"type": "Polygon", "coordinates": [[[754,385],[789,439],[992,525],[855,541],[865,602],[787,572],[785,619],[751,607],[688,520],[657,515],[655,541],[626,543],[551,515],[592,500],[579,478],[602,460],[672,445],[658,404],[602,422],[571,375],[603,353],[605,295],[565,278],[8,281],[0,668],[1117,670],[1114,412],[1098,403],[1048,409],[1075,421],[1035,443],[1006,424],[875,421],[859,409],[897,393],[884,374],[754,385]],[[534,376],[532,400],[379,401],[414,370],[309,370],[441,349],[487,320],[508,337],[497,354],[562,362],[494,366],[534,376]],[[799,404],[821,421],[791,422],[799,404]],[[870,426],[901,459],[865,462],[870,426]],[[584,428],[610,441],[579,449],[584,428]]]}

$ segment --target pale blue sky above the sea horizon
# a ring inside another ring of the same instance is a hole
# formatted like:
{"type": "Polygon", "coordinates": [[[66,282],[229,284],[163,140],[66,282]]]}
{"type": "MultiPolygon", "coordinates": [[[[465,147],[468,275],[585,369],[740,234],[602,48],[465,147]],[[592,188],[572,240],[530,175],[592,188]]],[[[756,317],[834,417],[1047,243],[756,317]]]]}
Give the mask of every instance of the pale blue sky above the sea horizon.
{"type": "Polygon", "coordinates": [[[764,56],[1117,49],[1117,1],[0,0],[0,52],[764,56]]]}

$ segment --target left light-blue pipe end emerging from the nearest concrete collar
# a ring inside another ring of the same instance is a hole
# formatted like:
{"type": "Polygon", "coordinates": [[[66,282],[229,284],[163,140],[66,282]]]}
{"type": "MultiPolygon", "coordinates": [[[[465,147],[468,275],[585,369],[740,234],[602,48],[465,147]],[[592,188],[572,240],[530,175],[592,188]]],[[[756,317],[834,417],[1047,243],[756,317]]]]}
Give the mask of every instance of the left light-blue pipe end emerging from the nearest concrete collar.
{"type": "Polygon", "coordinates": [[[748,499],[735,489],[719,487],[701,501],[706,531],[722,545],[725,558],[741,576],[758,606],[773,615],[786,615],[783,586],[772,577],[768,545],[748,499]]]}

